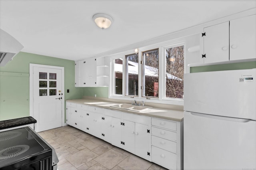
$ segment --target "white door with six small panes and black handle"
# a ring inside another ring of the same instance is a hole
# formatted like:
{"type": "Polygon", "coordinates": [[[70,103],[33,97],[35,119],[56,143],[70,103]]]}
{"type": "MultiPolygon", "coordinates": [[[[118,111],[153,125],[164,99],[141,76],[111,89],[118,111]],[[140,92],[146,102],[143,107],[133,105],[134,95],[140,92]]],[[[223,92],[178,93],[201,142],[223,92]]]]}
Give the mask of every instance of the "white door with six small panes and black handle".
{"type": "MultiPolygon", "coordinates": [[[[33,117],[36,132],[62,126],[62,70],[33,67],[33,117]]],[[[30,84],[31,85],[31,84],[30,84]]],[[[31,100],[31,99],[30,99],[31,100]]]]}

